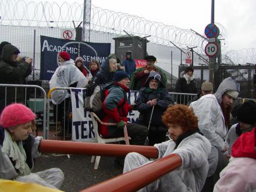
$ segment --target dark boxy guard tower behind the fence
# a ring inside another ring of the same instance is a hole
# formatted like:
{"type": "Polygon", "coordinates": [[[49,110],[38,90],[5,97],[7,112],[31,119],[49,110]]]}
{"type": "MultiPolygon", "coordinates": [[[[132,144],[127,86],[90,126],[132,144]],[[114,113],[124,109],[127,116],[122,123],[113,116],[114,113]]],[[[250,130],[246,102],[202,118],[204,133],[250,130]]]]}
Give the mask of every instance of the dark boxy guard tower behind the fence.
{"type": "Polygon", "coordinates": [[[147,42],[149,41],[146,38],[125,35],[115,37],[113,40],[115,40],[115,54],[121,62],[125,60],[126,51],[132,52],[133,59],[144,59],[147,55],[147,42]]]}

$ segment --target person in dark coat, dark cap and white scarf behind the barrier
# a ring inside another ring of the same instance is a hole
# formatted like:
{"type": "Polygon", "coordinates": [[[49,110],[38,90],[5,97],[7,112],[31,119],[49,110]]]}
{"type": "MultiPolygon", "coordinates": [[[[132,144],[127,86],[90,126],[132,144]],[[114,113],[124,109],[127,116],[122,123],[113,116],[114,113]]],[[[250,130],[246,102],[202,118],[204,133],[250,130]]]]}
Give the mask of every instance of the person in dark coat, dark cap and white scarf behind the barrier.
{"type": "MultiPolygon", "coordinates": [[[[194,69],[191,66],[187,66],[183,72],[180,73],[180,77],[176,82],[176,93],[198,93],[197,86],[193,77],[194,69]]],[[[177,97],[178,104],[187,105],[191,97],[189,95],[182,95],[177,97]]]]}

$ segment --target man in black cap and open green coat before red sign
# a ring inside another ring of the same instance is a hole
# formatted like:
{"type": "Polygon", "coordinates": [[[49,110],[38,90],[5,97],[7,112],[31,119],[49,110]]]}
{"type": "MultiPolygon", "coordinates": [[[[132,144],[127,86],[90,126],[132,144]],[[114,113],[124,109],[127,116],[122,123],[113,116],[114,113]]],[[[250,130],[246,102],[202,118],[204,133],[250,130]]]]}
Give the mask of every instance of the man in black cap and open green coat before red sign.
{"type": "Polygon", "coordinates": [[[136,69],[131,75],[130,90],[140,90],[140,88],[143,87],[147,81],[150,73],[154,72],[161,74],[162,83],[166,87],[167,79],[165,73],[162,69],[155,66],[157,58],[155,58],[153,55],[148,55],[145,57],[145,61],[147,62],[147,65],[136,69]]]}

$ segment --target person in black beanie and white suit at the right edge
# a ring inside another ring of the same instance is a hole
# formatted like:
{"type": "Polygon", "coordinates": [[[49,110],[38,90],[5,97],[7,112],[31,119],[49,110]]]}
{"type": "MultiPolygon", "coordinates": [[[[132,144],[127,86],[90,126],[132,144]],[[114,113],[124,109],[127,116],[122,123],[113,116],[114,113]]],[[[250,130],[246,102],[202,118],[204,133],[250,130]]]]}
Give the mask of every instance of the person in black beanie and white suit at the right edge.
{"type": "Polygon", "coordinates": [[[237,120],[239,123],[236,123],[230,127],[229,132],[225,140],[225,144],[228,150],[228,157],[230,157],[231,149],[234,144],[234,141],[237,140],[241,134],[249,132],[256,127],[256,102],[246,101],[243,105],[240,106],[237,112],[237,120]]]}

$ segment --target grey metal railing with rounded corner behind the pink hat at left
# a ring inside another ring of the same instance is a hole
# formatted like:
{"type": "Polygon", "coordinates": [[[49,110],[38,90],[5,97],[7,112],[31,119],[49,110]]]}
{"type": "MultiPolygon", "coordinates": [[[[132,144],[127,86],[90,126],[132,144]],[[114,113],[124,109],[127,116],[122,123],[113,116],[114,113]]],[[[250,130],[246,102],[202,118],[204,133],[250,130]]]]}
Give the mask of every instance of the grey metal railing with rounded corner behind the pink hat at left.
{"type": "MultiPolygon", "coordinates": [[[[45,90],[40,87],[40,86],[36,86],[36,85],[25,85],[25,84],[0,84],[0,87],[3,87],[5,89],[5,96],[4,96],[4,100],[5,100],[5,106],[10,104],[9,102],[7,103],[8,101],[8,96],[10,97],[10,95],[7,94],[7,90],[8,88],[15,88],[15,98],[13,101],[10,101],[11,103],[12,102],[16,102],[17,101],[17,94],[20,94],[20,93],[17,93],[17,88],[20,88],[20,87],[23,87],[25,90],[24,90],[24,104],[27,104],[27,88],[34,88],[34,98],[33,98],[33,102],[34,102],[34,108],[30,108],[34,113],[37,111],[37,105],[36,105],[36,102],[37,102],[37,89],[39,89],[42,93],[42,96],[40,97],[41,99],[43,99],[43,109],[42,109],[42,113],[43,113],[43,116],[42,116],[42,129],[43,129],[43,137],[44,138],[47,138],[47,130],[49,130],[49,126],[47,126],[47,95],[45,93],[45,90]]],[[[13,96],[13,95],[12,95],[13,96]]],[[[31,98],[31,97],[30,97],[31,98]]]]}

